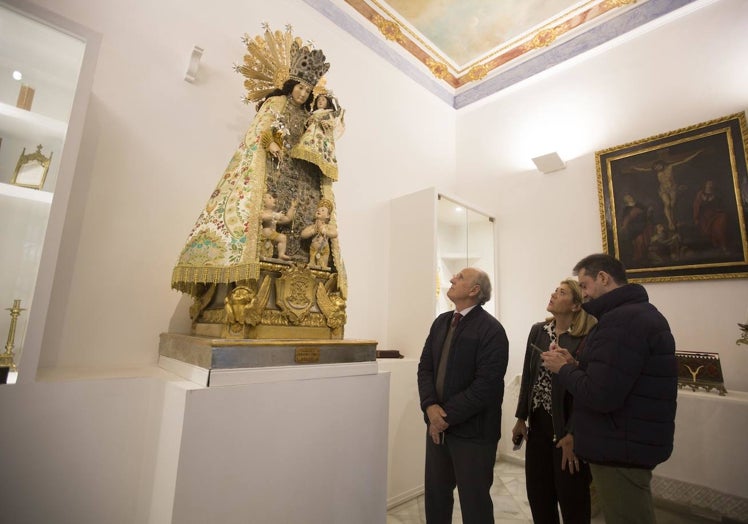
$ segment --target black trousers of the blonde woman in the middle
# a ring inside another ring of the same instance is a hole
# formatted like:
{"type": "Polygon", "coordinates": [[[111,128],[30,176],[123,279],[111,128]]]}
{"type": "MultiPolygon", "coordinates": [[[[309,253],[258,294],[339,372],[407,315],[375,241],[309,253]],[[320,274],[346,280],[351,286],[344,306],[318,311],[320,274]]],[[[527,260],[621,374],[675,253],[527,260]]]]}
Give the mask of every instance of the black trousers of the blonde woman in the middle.
{"type": "Polygon", "coordinates": [[[580,462],[573,475],[561,470],[561,448],[553,442],[553,421],[544,409],[530,415],[525,450],[525,481],[535,524],[559,524],[558,506],[564,524],[590,522],[590,468],[580,462]]]}

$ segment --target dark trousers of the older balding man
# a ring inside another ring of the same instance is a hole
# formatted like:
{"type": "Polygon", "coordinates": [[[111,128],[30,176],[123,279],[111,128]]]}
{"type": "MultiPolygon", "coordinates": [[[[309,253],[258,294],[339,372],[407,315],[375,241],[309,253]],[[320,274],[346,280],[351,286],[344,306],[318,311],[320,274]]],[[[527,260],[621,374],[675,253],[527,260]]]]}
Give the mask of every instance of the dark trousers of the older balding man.
{"type": "Polygon", "coordinates": [[[460,496],[464,524],[493,524],[489,493],[496,464],[495,443],[475,442],[445,435],[434,444],[426,434],[426,522],[451,524],[454,489],[460,496]]]}

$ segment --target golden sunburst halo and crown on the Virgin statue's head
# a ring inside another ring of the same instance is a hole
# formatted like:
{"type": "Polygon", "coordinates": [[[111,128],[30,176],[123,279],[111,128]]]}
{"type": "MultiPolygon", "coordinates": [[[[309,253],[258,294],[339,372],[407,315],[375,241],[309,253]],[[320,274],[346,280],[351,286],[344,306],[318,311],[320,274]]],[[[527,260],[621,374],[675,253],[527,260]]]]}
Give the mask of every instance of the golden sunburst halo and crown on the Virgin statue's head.
{"type": "Polygon", "coordinates": [[[271,31],[266,23],[262,28],[262,35],[242,37],[247,54],[242,65],[234,66],[246,79],[245,102],[262,100],[289,79],[313,88],[330,69],[325,54],[311,43],[302,44],[301,38],[293,36],[290,25],[286,25],[284,32],[271,31]]]}

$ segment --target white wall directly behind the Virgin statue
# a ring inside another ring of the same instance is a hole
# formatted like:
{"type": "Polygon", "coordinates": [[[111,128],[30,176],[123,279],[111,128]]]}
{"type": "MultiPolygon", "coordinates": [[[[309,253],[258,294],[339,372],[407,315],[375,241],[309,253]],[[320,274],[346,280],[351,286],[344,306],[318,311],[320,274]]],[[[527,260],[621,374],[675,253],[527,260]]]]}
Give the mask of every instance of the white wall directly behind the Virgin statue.
{"type": "Polygon", "coordinates": [[[388,202],[455,176],[454,110],[300,0],[38,3],[102,34],[40,368],[152,364],[159,333],[189,328],[171,269],[252,118],[232,64],[263,21],[290,23],[332,64],[347,109],[335,187],[346,336],[386,341],[388,202]],[[189,84],[194,45],[205,52],[189,84]]]}

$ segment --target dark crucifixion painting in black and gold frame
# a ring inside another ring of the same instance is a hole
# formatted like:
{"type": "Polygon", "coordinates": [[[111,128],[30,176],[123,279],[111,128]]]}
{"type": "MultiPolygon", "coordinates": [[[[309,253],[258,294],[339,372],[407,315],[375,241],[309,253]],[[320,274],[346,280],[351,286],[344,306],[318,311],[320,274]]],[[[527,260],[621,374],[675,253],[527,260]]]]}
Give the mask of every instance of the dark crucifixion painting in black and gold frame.
{"type": "Polygon", "coordinates": [[[737,113],[595,153],[603,250],[631,282],[748,278],[746,137],[737,113]]]}

